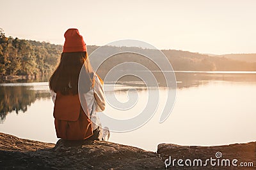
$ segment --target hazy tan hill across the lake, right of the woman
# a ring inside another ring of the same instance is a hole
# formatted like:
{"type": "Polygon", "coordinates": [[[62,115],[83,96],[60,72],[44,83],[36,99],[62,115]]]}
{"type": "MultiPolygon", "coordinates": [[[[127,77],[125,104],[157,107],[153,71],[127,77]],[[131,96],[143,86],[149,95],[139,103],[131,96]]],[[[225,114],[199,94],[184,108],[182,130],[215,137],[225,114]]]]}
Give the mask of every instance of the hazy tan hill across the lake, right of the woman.
{"type": "MultiPolygon", "coordinates": [[[[88,46],[89,53],[95,50],[96,48],[97,46],[88,46]]],[[[151,55],[154,55],[155,53],[154,50],[143,49],[138,47],[105,46],[104,48],[108,48],[109,51],[116,52],[121,52],[122,48],[125,51],[132,50],[138,53],[143,51],[145,53],[150,53],[151,55]]],[[[105,51],[108,50],[106,49],[105,51]]],[[[256,71],[256,62],[232,60],[227,59],[225,57],[210,57],[209,55],[205,54],[185,52],[180,50],[161,51],[164,53],[164,55],[166,55],[175,71],[256,71]]],[[[93,60],[102,60],[103,55],[105,54],[99,53],[97,54],[97,59],[93,60]]],[[[157,70],[156,64],[154,64],[151,60],[134,53],[122,53],[122,55],[115,55],[108,59],[106,62],[104,62],[103,66],[100,69],[108,71],[109,69],[111,69],[111,67],[116,66],[117,64],[120,64],[125,61],[138,62],[140,64],[143,64],[144,66],[147,66],[148,69],[157,70]]]]}

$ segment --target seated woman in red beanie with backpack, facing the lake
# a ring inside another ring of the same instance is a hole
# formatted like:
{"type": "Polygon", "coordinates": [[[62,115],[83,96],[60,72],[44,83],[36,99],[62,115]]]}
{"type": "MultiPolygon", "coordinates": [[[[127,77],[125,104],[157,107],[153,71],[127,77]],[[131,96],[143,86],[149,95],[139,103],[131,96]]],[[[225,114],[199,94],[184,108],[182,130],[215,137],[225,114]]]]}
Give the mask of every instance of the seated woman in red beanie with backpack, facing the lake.
{"type": "Polygon", "coordinates": [[[108,128],[102,130],[97,116],[97,111],[105,109],[103,81],[93,72],[79,31],[68,29],[64,36],[60,64],[49,80],[57,137],[108,140],[108,128]]]}

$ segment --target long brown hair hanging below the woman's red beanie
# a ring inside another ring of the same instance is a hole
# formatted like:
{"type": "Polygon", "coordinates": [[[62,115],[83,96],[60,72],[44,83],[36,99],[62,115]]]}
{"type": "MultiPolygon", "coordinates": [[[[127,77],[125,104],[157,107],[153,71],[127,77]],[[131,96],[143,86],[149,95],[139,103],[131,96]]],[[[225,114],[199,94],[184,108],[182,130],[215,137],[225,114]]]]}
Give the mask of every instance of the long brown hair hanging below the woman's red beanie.
{"type": "Polygon", "coordinates": [[[61,53],[60,64],[49,80],[49,87],[54,92],[61,92],[63,95],[77,94],[78,81],[81,68],[83,69],[83,92],[92,87],[92,66],[90,65],[87,52],[63,52],[61,53]]]}

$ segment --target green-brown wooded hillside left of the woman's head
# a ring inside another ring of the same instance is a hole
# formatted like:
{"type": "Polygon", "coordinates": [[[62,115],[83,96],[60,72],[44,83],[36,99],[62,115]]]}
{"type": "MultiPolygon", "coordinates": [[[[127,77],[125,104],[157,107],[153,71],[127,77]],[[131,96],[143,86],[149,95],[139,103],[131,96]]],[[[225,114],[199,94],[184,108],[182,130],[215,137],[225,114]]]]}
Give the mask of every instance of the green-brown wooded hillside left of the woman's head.
{"type": "Polygon", "coordinates": [[[0,30],[0,74],[2,76],[51,73],[58,63],[61,45],[6,37],[0,30]]]}

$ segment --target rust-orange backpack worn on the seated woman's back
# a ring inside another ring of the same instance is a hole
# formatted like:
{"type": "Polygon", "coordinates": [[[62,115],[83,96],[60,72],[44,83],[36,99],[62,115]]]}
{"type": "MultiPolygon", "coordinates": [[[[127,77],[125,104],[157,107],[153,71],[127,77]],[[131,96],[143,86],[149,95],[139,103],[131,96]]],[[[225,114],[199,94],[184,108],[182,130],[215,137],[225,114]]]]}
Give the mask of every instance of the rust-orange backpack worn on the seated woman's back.
{"type": "Polygon", "coordinates": [[[81,140],[92,136],[88,108],[85,111],[86,113],[81,107],[78,94],[63,95],[57,92],[53,111],[57,138],[81,140]]]}

